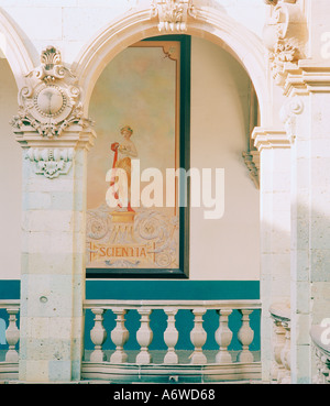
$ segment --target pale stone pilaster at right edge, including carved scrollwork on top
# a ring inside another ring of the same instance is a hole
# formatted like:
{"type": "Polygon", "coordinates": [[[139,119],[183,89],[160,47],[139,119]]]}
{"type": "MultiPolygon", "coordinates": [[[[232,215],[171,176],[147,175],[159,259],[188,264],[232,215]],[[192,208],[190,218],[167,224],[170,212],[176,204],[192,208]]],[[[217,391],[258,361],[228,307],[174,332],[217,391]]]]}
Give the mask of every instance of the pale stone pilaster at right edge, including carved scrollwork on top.
{"type": "MultiPolygon", "coordinates": [[[[266,35],[270,66],[278,74],[273,76],[286,98],[280,119],[292,142],[292,382],[311,383],[310,326],[330,312],[330,66],[320,58],[320,36],[318,41],[315,36],[320,26],[311,19],[307,28],[301,2],[268,3],[278,17],[265,30],[271,34],[266,35]],[[274,34],[283,46],[270,41],[274,34]]],[[[324,3],[315,10],[324,11],[324,3]]]]}

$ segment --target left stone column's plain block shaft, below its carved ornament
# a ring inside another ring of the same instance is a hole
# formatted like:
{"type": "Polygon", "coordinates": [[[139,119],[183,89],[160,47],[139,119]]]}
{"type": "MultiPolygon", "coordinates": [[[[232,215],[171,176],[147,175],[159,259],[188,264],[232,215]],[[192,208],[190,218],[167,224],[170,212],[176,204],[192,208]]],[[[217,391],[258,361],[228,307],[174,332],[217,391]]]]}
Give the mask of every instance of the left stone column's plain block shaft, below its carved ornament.
{"type": "Polygon", "coordinates": [[[54,179],[24,158],[21,381],[80,378],[86,151],[74,154],[69,173],[54,179]]]}

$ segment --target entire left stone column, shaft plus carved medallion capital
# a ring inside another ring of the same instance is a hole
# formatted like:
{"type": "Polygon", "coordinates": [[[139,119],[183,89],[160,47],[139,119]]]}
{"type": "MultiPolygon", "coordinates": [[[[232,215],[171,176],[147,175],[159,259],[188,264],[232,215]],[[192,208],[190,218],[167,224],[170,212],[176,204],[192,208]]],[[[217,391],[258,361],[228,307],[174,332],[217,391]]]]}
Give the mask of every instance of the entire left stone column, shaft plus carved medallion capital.
{"type": "Polygon", "coordinates": [[[86,158],[95,136],[80,89],[48,47],[19,95],[23,147],[19,380],[80,380],[84,350],[86,158]]]}

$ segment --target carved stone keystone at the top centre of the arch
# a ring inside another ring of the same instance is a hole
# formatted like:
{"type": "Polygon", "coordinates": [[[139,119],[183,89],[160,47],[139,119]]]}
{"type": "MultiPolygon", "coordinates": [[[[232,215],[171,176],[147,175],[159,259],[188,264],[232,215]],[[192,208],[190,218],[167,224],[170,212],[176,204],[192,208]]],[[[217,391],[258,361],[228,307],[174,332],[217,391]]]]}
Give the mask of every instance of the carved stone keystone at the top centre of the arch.
{"type": "Polygon", "coordinates": [[[188,17],[196,18],[193,0],[153,0],[151,7],[151,18],[158,15],[160,32],[185,32],[188,17]]]}

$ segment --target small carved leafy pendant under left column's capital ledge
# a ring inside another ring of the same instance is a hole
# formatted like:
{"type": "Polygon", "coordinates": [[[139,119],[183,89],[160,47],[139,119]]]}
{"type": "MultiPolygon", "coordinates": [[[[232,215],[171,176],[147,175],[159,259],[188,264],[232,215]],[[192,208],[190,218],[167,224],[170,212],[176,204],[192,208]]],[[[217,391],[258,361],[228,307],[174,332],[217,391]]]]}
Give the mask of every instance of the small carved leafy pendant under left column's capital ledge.
{"type": "Polygon", "coordinates": [[[34,149],[30,147],[25,158],[35,164],[35,173],[53,179],[66,175],[73,164],[74,149],[34,149]]]}

